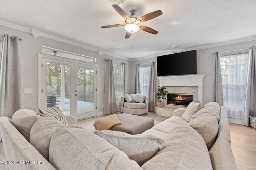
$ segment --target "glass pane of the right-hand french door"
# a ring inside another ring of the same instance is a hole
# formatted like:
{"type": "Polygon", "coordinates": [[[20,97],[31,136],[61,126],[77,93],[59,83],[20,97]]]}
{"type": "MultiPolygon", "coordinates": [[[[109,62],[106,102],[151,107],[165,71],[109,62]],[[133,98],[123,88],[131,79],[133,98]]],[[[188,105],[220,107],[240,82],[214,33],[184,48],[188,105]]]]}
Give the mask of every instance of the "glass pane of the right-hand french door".
{"type": "Polygon", "coordinates": [[[93,73],[94,70],[91,68],[77,69],[77,113],[94,110],[93,73]]]}

